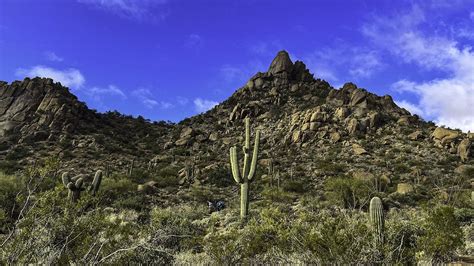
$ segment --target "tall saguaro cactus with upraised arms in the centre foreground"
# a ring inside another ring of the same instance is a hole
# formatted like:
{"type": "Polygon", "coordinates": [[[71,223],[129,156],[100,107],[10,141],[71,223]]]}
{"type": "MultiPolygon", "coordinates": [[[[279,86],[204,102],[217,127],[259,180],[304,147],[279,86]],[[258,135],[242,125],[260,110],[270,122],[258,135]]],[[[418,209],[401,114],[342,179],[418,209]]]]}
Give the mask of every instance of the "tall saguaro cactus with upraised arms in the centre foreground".
{"type": "Polygon", "coordinates": [[[255,144],[253,146],[252,160],[250,160],[250,119],[245,118],[245,143],[244,166],[242,172],[239,170],[237,158],[237,147],[230,148],[230,165],[235,182],[240,184],[240,217],[245,219],[249,210],[249,182],[252,181],[257,168],[258,145],[260,143],[260,131],[255,132],[255,144]]]}

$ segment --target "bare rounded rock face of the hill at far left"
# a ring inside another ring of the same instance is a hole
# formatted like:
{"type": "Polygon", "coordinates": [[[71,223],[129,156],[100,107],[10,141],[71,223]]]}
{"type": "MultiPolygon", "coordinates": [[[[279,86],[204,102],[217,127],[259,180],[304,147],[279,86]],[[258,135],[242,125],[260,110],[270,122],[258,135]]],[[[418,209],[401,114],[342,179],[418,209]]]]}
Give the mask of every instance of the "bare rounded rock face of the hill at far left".
{"type": "Polygon", "coordinates": [[[77,121],[94,120],[85,104],[51,79],[0,84],[0,137],[16,135],[20,142],[55,139],[88,125],[77,121]]]}

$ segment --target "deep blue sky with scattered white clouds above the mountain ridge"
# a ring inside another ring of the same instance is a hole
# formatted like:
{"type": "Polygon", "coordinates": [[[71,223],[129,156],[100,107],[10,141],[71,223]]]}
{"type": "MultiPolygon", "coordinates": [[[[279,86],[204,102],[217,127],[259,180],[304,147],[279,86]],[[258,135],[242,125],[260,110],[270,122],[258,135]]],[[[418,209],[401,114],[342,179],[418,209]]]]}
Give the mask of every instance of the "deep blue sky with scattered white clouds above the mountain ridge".
{"type": "Polygon", "coordinates": [[[287,50],[316,77],[474,131],[474,1],[0,0],[0,80],[180,121],[287,50]]]}

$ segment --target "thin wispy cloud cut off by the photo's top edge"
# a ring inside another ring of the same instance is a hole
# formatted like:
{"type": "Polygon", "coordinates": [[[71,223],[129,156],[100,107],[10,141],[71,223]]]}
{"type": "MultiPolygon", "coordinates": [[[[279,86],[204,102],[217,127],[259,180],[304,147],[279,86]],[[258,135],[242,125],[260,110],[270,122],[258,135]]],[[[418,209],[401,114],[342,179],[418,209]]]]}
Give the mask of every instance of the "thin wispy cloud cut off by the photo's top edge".
{"type": "Polygon", "coordinates": [[[166,12],[159,12],[154,8],[167,3],[167,0],[77,0],[77,2],[135,20],[156,21],[166,17],[166,12]]]}

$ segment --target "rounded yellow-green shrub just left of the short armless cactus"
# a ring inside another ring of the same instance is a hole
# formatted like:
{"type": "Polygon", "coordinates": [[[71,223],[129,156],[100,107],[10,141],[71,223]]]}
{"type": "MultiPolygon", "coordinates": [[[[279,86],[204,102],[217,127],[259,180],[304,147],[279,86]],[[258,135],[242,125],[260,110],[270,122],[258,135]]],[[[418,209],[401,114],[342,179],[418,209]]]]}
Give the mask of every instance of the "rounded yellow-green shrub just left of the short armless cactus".
{"type": "Polygon", "coordinates": [[[330,178],[324,184],[329,202],[344,208],[361,208],[368,204],[375,194],[369,180],[356,178],[330,178]]]}

